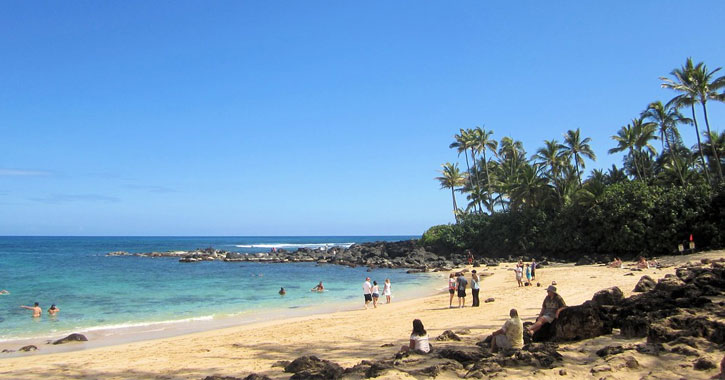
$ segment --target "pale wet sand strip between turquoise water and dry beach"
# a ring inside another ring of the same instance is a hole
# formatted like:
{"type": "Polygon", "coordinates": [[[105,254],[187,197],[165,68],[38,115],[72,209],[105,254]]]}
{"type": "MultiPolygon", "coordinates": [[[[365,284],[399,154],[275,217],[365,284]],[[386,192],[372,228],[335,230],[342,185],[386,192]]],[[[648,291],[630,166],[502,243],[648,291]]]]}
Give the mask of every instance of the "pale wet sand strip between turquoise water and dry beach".
{"type": "MultiPolygon", "coordinates": [[[[412,290],[407,289],[401,293],[394,294],[394,299],[397,298],[394,302],[405,302],[430,297],[442,292],[442,286],[433,286],[436,280],[443,278],[442,273],[443,272],[425,273],[425,275],[429,277],[427,283],[431,286],[426,287],[427,290],[423,292],[423,294],[414,295],[412,294],[412,290]],[[398,296],[398,294],[402,295],[398,296]]],[[[360,299],[362,300],[362,294],[360,299]]],[[[381,301],[384,303],[384,297],[381,297],[381,301]]],[[[43,334],[42,336],[35,337],[17,339],[11,338],[7,340],[0,340],[0,361],[5,358],[25,357],[31,355],[50,355],[54,353],[74,352],[158,339],[175,338],[227,328],[248,326],[260,323],[261,321],[282,322],[288,319],[294,320],[297,318],[305,318],[316,315],[355,311],[361,308],[361,303],[362,302],[358,300],[339,300],[337,302],[322,305],[308,305],[293,308],[273,307],[262,310],[249,309],[231,315],[222,314],[220,316],[198,316],[181,320],[156,322],[129,322],[125,326],[92,326],[53,333],[52,335],[43,334]],[[51,344],[52,342],[73,333],[85,335],[88,338],[88,341],[59,345],[51,344]],[[38,350],[32,352],[19,351],[21,347],[25,347],[27,345],[34,345],[38,347],[38,350]],[[14,352],[2,352],[3,350],[12,350],[14,352]]]]}

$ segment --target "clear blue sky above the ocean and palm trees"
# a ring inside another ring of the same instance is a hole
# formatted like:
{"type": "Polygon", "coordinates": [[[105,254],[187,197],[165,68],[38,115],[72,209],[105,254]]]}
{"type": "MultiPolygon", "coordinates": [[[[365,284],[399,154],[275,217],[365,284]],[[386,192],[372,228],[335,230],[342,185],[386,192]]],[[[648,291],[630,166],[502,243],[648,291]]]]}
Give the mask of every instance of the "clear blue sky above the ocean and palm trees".
{"type": "MultiPolygon", "coordinates": [[[[421,234],[459,128],[596,162],[725,2],[0,2],[0,235],[421,234]]],[[[725,105],[709,107],[722,131],[725,105]]],[[[683,131],[687,145],[694,133],[683,131]]],[[[465,164],[463,164],[465,167],[465,164]]]]}

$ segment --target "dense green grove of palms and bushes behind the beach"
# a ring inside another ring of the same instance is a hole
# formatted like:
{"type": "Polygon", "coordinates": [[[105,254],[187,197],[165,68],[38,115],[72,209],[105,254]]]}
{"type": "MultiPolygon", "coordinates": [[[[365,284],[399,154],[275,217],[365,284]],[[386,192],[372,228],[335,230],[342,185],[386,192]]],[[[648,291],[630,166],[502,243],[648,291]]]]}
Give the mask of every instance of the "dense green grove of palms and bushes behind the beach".
{"type": "Polygon", "coordinates": [[[625,154],[622,169],[594,170],[586,180],[585,159],[596,155],[579,129],[567,131],[563,143],[544,141],[531,158],[511,137],[496,141],[492,130],[461,129],[450,147],[463,154],[467,171],[446,163],[437,177],[451,189],[456,223],[432,227],[421,243],[443,254],[471,248],[485,256],[568,258],[672,253],[691,234],[698,248],[724,246],[725,132],[710,130],[706,106],[708,100],[725,102],[719,70],[688,58],[672,78],[660,78],[663,88],[679,94],[666,104],[650,103],[612,136],[608,153],[625,154]],[[683,116],[683,108],[692,118],[683,116]],[[697,135],[692,148],[678,129],[689,125],[697,135]],[[466,195],[465,208],[458,207],[456,191],[466,195]]]}

